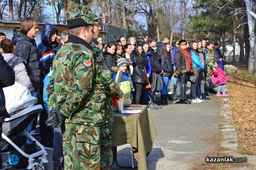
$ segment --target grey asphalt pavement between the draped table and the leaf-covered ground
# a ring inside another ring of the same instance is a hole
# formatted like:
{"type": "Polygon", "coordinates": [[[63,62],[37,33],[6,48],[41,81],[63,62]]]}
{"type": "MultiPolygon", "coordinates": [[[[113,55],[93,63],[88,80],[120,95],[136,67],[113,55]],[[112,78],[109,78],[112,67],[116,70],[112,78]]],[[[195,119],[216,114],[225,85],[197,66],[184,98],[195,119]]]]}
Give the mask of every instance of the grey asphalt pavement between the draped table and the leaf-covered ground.
{"type": "MultiPolygon", "coordinates": [[[[173,84],[171,84],[172,88],[173,84]]],[[[187,94],[189,93],[188,90],[187,94]]],[[[147,156],[148,169],[210,170],[212,168],[206,163],[206,157],[216,157],[220,150],[219,116],[220,102],[223,101],[221,96],[214,95],[210,98],[211,100],[204,100],[202,103],[173,104],[150,111],[158,136],[153,144],[154,150],[147,156]]],[[[157,99],[160,101],[160,96],[157,99]]],[[[119,164],[131,165],[130,145],[122,145],[117,149],[119,164]]],[[[227,154],[238,157],[238,153],[227,154]]],[[[250,160],[253,159],[255,157],[250,160]]],[[[136,165],[136,160],[133,161],[136,165]]],[[[229,169],[243,170],[244,166],[247,166],[246,163],[239,165],[233,167],[231,163],[229,169]]],[[[121,168],[114,165],[111,169],[121,168]]]]}

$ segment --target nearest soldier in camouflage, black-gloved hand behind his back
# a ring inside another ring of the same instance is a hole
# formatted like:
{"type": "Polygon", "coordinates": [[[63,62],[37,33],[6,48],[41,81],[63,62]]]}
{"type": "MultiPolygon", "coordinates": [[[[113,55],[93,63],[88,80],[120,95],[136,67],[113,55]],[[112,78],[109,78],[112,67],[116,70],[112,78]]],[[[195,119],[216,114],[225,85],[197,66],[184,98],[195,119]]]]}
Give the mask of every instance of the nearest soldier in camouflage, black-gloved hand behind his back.
{"type": "Polygon", "coordinates": [[[92,16],[90,11],[70,15],[70,36],[55,56],[47,88],[50,112],[46,123],[58,127],[64,122],[67,170],[101,169],[101,145],[108,141],[111,129],[107,123],[106,95],[122,96],[115,83],[105,82],[90,46],[93,29],[99,26],[91,20],[92,16]]]}

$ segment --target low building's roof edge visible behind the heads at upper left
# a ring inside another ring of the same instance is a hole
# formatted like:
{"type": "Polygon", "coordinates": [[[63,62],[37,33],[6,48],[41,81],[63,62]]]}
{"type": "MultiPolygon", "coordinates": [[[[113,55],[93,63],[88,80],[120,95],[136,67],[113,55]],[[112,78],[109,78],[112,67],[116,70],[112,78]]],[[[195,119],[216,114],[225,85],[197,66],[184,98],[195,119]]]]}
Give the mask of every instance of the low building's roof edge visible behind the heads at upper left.
{"type": "MultiPolygon", "coordinates": [[[[41,30],[42,26],[45,23],[38,23],[38,29],[41,30]]],[[[52,24],[55,26],[59,32],[68,30],[67,26],[65,24],[52,24]]],[[[7,26],[7,27],[19,27],[20,22],[15,22],[15,21],[0,21],[0,26],[7,26]]],[[[108,32],[106,31],[100,31],[100,35],[106,35],[108,32]]]]}

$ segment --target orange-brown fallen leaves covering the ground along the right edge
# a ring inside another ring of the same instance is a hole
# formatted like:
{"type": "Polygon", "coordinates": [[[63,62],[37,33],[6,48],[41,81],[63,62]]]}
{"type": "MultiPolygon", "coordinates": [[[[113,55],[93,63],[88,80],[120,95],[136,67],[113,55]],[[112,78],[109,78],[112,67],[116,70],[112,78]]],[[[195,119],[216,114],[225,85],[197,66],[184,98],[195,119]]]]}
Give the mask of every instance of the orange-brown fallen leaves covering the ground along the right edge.
{"type": "Polygon", "coordinates": [[[228,75],[230,115],[236,125],[239,150],[256,155],[256,76],[244,67],[237,68],[237,74],[228,75]]]}

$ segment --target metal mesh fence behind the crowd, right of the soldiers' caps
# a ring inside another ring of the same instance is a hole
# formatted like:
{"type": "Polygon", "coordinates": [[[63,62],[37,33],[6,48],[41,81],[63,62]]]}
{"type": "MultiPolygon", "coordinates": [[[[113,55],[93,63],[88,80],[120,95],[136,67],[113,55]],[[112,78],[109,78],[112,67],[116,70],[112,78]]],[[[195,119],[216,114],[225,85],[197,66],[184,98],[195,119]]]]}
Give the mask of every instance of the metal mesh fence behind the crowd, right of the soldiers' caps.
{"type": "Polygon", "coordinates": [[[120,36],[127,36],[127,31],[125,28],[119,28],[109,24],[103,24],[101,31],[106,33],[106,35],[102,36],[104,43],[114,42],[116,41],[116,38],[120,36]]]}

